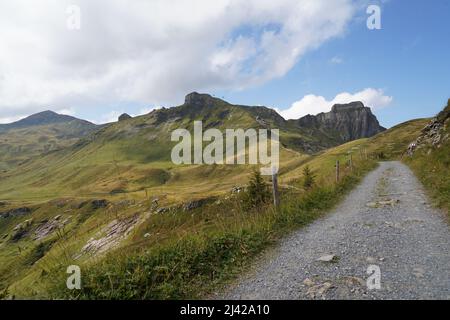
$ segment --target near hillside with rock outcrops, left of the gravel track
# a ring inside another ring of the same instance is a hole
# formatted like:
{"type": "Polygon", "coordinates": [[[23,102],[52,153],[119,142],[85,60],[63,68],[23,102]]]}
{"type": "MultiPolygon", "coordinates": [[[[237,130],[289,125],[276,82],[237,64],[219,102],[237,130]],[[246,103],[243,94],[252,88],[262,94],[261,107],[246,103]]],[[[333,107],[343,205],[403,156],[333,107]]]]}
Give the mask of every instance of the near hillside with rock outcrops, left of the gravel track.
{"type": "MultiPolygon", "coordinates": [[[[67,266],[76,264],[86,270],[83,281],[87,291],[82,293],[86,298],[203,295],[231,279],[286,232],[321,216],[351,189],[375,162],[355,156],[353,171],[343,166],[339,184],[334,182],[334,163],[339,159],[344,164],[348,153],[356,152],[364,142],[283,161],[283,200],[278,212],[270,204],[244,210],[239,194],[230,188],[202,202],[169,201],[171,205],[164,197],[157,203],[152,198],[70,198],[28,205],[22,201],[30,213],[15,214],[11,209],[18,203],[6,202],[0,211],[11,213],[0,223],[0,288],[16,297],[68,297],[62,279],[67,266]],[[316,187],[309,191],[302,187],[306,165],[316,175],[316,187]],[[145,268],[148,273],[142,271],[145,268]],[[113,277],[117,290],[106,287],[109,284],[102,274],[113,277]]],[[[205,183],[203,197],[211,194],[207,186],[223,188],[219,169],[200,166],[185,170],[180,172],[181,181],[184,174],[191,177],[197,171],[198,175],[194,175],[195,183],[186,182],[187,194],[192,193],[188,188],[202,189],[201,181],[209,177],[217,176],[217,182],[205,183]]],[[[245,184],[251,168],[239,170],[245,184]]]]}

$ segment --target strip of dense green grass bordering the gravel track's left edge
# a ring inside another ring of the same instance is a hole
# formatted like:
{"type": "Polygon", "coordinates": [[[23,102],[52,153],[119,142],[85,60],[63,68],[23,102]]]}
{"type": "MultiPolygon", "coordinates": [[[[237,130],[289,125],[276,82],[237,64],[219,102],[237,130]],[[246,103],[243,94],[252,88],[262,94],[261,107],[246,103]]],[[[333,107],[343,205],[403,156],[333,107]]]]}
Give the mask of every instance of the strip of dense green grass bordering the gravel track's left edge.
{"type": "Polygon", "coordinates": [[[258,253],[287,232],[323,215],[374,166],[374,161],[358,162],[354,174],[346,175],[338,185],[285,192],[278,212],[270,205],[243,210],[239,198],[205,208],[199,214],[208,220],[208,228],[196,226],[196,232],[186,232],[154,247],[109,254],[82,268],[81,291],[68,291],[65,275],[61,274],[50,292],[56,294],[54,297],[76,299],[204,297],[233,279],[258,253]]]}

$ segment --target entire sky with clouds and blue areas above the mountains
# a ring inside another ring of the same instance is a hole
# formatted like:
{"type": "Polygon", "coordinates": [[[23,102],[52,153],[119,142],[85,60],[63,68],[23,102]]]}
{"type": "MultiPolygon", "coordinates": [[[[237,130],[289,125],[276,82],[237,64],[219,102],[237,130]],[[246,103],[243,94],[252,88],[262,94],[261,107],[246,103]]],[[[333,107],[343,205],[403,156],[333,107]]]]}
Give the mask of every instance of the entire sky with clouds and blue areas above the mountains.
{"type": "Polygon", "coordinates": [[[192,91],[287,119],[363,101],[381,124],[450,98],[447,0],[2,0],[0,123],[95,123],[192,91]],[[369,29],[369,6],[380,29],[369,29]]]}

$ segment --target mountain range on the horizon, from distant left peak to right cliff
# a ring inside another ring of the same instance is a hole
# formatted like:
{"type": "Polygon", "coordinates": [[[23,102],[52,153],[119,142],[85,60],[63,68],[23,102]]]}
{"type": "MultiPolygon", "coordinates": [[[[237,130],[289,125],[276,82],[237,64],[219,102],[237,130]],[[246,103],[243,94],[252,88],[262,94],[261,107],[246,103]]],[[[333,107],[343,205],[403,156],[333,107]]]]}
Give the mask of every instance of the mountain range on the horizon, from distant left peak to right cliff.
{"type": "MultiPolygon", "coordinates": [[[[271,108],[234,105],[208,94],[193,92],[180,106],[154,110],[135,118],[123,114],[118,122],[105,126],[52,111],[0,125],[0,170],[71,145],[99,144],[116,148],[119,143],[121,149],[114,151],[118,156],[123,154],[123,150],[138,148],[142,153],[147,152],[139,154],[139,158],[166,161],[170,157],[169,132],[177,128],[192,129],[194,120],[203,121],[205,129],[276,128],[280,130],[283,147],[308,154],[385,130],[370,108],[361,102],[335,105],[331,112],[316,116],[285,120],[271,108]],[[105,141],[108,142],[106,145],[105,141]]],[[[136,151],[125,153],[124,160],[136,151]]]]}

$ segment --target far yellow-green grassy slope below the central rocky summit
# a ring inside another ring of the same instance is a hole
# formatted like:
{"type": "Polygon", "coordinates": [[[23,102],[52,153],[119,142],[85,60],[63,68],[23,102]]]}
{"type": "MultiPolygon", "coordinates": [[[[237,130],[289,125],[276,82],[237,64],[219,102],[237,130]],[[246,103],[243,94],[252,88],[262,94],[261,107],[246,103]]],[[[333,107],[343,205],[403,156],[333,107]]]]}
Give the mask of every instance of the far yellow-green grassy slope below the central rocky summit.
{"type": "MultiPolygon", "coordinates": [[[[271,116],[267,122],[275,125],[279,119],[271,116]]],[[[40,202],[62,197],[142,199],[151,195],[170,202],[217,194],[243,184],[248,170],[242,166],[175,166],[170,161],[175,145],[170,133],[177,128],[192,130],[194,120],[203,120],[205,128],[261,128],[253,109],[221,100],[205,108],[158,110],[112,124],[71,148],[0,173],[0,199],[40,202]]],[[[301,131],[282,129],[285,167],[306,157],[289,144],[293,137],[301,138],[301,131]]]]}

